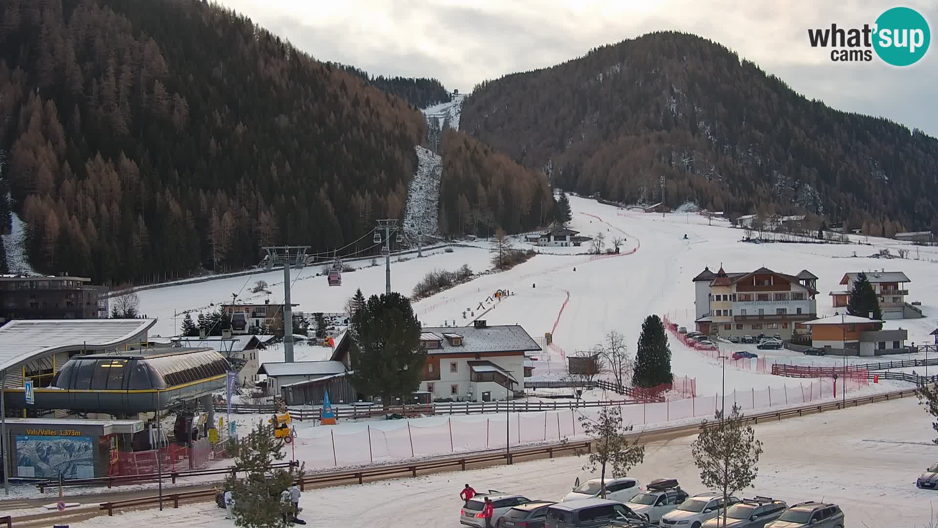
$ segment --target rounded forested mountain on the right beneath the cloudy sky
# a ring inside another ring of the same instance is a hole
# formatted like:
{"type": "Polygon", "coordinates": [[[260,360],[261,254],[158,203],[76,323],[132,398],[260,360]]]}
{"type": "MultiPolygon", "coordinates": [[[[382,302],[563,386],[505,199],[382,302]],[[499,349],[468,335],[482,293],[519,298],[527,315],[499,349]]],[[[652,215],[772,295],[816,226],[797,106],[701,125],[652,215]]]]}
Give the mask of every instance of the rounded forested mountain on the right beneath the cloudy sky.
{"type": "Polygon", "coordinates": [[[938,141],[808,101],[723,46],[663,32],[482,83],[461,130],[554,185],[731,214],[807,210],[851,227],[933,224],[938,141]]]}

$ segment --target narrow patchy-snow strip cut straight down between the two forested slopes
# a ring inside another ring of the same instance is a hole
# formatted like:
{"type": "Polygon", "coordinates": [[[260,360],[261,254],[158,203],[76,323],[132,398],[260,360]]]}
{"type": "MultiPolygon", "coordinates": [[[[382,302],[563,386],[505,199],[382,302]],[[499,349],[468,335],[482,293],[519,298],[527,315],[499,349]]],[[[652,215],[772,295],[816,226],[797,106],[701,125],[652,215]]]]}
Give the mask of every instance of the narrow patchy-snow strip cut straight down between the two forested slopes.
{"type": "Polygon", "coordinates": [[[417,145],[416,173],[407,188],[404,231],[409,235],[436,235],[440,213],[440,177],[443,158],[417,145]]]}

